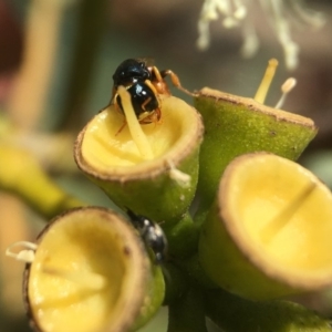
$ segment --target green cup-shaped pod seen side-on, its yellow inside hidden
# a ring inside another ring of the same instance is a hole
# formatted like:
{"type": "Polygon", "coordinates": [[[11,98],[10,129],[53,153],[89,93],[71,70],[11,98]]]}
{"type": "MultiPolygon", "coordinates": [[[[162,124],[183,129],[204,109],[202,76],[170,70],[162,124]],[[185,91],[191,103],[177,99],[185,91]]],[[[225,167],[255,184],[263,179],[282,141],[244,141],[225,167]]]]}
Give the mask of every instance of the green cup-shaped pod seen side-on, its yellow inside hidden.
{"type": "Polygon", "coordinates": [[[310,118],[208,87],[198,93],[195,107],[206,128],[198,180],[206,207],[212,203],[220,176],[235,157],[266,151],[295,160],[317,134],[310,118]]]}

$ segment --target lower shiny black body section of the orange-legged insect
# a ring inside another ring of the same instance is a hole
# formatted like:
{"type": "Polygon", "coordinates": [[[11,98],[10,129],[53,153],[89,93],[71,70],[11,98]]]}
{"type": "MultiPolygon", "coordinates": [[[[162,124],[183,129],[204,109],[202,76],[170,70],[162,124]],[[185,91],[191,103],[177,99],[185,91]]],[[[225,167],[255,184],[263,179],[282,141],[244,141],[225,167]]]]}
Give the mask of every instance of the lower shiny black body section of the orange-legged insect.
{"type": "MultiPolygon", "coordinates": [[[[127,89],[132,96],[132,105],[137,118],[142,123],[152,123],[148,114],[156,111],[158,116],[159,101],[151,86],[144,82],[136,82],[127,89]],[[147,112],[147,115],[142,118],[142,115],[147,112]]],[[[123,106],[120,95],[116,96],[116,103],[123,112],[123,106]]]]}

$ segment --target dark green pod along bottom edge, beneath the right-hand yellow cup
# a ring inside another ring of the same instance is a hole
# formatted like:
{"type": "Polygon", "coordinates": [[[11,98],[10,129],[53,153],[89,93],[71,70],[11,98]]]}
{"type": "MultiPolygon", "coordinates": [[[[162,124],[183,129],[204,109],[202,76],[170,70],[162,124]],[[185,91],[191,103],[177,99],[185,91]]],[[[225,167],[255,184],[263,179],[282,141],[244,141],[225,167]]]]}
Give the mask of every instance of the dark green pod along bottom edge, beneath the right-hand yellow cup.
{"type": "Polygon", "coordinates": [[[222,290],[206,294],[206,313],[227,332],[331,332],[328,320],[289,301],[248,301],[222,290]]]}

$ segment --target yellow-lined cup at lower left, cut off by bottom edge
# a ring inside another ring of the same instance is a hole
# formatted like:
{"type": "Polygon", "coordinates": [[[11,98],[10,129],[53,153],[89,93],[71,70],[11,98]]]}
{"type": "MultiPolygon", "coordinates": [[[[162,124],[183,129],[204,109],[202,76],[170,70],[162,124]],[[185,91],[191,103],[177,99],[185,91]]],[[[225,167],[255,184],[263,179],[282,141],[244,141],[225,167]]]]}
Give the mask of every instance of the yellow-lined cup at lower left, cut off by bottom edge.
{"type": "Polygon", "coordinates": [[[42,231],[23,290],[37,331],[121,332],[155,314],[165,284],[132,225],[87,207],[69,210],[42,231]]]}

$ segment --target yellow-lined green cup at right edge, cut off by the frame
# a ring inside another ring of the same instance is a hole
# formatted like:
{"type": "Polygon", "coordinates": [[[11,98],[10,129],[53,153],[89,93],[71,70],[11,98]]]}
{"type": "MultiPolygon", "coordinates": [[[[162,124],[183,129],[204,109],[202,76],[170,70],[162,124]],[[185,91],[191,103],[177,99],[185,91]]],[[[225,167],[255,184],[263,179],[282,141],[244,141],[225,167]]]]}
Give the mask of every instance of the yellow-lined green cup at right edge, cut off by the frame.
{"type": "Polygon", "coordinates": [[[266,153],[226,168],[199,258],[220,287],[263,300],[332,284],[332,194],[312,173],[266,153]]]}

